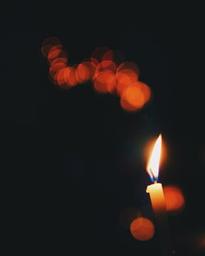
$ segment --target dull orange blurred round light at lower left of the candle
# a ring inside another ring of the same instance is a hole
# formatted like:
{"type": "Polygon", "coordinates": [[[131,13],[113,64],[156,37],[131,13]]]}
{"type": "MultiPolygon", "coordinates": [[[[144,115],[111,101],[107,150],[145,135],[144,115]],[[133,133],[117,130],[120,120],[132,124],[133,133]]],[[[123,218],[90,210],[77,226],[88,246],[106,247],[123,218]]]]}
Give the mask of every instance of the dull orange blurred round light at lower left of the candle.
{"type": "Polygon", "coordinates": [[[155,228],[153,226],[153,222],[151,222],[148,218],[138,217],[131,223],[130,231],[135,239],[146,241],[153,237],[155,228]]]}

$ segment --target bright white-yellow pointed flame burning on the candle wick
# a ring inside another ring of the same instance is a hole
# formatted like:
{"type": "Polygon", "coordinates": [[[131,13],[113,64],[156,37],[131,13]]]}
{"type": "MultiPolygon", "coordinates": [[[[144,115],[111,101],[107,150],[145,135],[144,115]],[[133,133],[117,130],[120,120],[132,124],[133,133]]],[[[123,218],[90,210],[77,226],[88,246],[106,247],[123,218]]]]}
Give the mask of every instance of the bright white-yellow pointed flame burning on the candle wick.
{"type": "Polygon", "coordinates": [[[161,157],[162,135],[160,134],[153,146],[153,152],[148,160],[147,171],[151,180],[158,180],[159,162],[161,157]]]}

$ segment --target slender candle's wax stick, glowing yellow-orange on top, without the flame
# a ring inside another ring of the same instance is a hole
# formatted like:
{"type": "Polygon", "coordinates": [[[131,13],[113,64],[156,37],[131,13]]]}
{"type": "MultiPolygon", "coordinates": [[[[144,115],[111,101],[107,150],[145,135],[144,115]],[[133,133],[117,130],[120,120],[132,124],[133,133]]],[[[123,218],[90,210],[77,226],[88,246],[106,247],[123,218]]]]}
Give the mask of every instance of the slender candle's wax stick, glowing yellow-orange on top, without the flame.
{"type": "Polygon", "coordinates": [[[155,183],[153,185],[148,185],[146,192],[149,193],[156,219],[157,235],[160,243],[161,253],[163,256],[173,256],[162,184],[155,183]]]}

